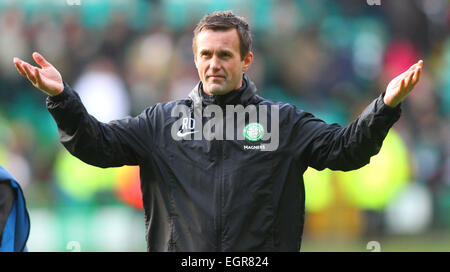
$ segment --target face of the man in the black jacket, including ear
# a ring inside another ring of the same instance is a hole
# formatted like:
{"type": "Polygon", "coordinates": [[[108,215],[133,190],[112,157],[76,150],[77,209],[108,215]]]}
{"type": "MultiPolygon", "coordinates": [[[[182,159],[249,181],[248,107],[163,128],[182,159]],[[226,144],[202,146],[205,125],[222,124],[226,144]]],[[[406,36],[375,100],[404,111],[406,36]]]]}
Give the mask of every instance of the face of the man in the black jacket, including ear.
{"type": "Polygon", "coordinates": [[[195,65],[207,94],[222,95],[242,85],[242,73],[253,60],[250,52],[241,59],[236,29],[214,31],[205,29],[197,34],[195,65]]]}

